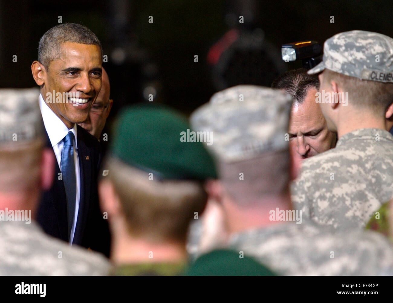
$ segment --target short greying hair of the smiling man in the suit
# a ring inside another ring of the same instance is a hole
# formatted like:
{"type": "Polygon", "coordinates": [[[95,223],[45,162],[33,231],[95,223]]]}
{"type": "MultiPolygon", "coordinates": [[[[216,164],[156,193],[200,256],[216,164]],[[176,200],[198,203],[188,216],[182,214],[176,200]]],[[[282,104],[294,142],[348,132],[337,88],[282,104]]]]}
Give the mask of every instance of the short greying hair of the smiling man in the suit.
{"type": "Polygon", "coordinates": [[[101,49],[101,42],[86,26],[77,23],[64,23],[53,26],[40,39],[38,61],[48,70],[50,62],[60,57],[61,45],[65,42],[93,44],[101,49]]]}

